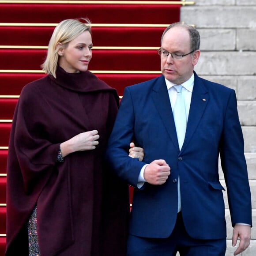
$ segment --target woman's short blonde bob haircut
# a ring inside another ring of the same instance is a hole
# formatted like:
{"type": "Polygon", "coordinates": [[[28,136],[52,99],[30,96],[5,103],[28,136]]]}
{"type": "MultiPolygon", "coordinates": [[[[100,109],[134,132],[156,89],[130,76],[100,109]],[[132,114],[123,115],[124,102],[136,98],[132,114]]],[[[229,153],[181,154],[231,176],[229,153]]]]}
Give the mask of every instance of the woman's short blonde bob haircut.
{"type": "Polygon", "coordinates": [[[70,41],[84,31],[89,31],[91,34],[90,20],[85,18],[65,19],[55,27],[49,41],[45,62],[41,65],[46,74],[53,75],[56,78],[56,69],[59,60],[58,50],[60,47],[67,47],[70,41]],[[57,43],[61,43],[61,45],[57,45],[57,43]]]}

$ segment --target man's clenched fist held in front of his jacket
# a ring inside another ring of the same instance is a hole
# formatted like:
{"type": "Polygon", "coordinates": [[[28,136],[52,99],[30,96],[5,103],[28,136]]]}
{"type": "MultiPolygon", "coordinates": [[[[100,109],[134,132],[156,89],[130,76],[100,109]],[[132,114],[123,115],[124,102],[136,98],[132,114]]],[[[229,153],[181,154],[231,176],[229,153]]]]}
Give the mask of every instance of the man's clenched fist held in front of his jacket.
{"type": "Polygon", "coordinates": [[[170,169],[165,160],[154,160],[145,168],[144,179],[152,185],[162,185],[171,174],[170,169]]]}

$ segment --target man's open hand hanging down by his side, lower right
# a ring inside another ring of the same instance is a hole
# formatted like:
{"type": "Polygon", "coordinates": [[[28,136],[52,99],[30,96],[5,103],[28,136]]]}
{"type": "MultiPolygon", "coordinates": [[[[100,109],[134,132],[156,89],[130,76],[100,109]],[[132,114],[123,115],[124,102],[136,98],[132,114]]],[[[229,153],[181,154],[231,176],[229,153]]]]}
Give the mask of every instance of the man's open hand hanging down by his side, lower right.
{"type": "Polygon", "coordinates": [[[233,246],[236,246],[238,237],[240,237],[240,242],[238,248],[234,252],[234,255],[238,255],[243,252],[250,245],[251,226],[236,224],[233,229],[233,246]]]}

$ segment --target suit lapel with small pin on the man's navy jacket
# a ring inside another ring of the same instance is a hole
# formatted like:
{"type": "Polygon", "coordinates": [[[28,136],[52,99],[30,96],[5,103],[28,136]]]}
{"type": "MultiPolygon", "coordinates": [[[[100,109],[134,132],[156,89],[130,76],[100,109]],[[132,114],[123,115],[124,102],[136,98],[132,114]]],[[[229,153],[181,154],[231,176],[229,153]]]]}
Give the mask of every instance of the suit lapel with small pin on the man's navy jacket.
{"type": "Polygon", "coordinates": [[[195,82],[190,103],[188,124],[181,151],[183,151],[184,148],[189,144],[189,141],[192,135],[195,133],[196,128],[203,116],[203,112],[209,102],[209,94],[207,88],[203,85],[202,79],[200,79],[195,72],[194,75],[195,82]]]}

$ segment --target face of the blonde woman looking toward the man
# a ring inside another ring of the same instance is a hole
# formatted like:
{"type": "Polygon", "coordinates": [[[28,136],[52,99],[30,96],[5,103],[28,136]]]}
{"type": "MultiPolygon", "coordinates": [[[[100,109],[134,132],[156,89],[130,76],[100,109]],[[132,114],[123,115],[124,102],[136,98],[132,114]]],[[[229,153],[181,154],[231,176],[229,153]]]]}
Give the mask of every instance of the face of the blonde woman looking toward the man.
{"type": "Polygon", "coordinates": [[[87,71],[92,57],[92,39],[89,31],[85,31],[70,41],[66,48],[58,51],[59,65],[68,73],[87,71]]]}

